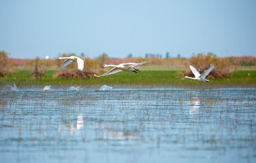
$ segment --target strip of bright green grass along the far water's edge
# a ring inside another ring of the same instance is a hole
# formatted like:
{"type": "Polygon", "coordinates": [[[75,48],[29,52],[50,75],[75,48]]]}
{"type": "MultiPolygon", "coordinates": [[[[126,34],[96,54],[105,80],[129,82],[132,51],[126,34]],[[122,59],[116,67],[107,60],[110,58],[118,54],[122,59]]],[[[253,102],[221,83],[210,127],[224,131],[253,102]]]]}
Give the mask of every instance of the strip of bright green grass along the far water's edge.
{"type": "Polygon", "coordinates": [[[184,79],[181,71],[141,71],[139,73],[121,72],[103,77],[89,79],[66,79],[52,77],[56,71],[46,71],[42,79],[31,78],[28,70],[17,70],[0,78],[0,85],[4,86],[15,82],[16,86],[256,86],[256,71],[234,71],[230,78],[210,79],[209,83],[202,83],[184,79]],[[250,73],[250,75],[248,75],[250,73]]]}

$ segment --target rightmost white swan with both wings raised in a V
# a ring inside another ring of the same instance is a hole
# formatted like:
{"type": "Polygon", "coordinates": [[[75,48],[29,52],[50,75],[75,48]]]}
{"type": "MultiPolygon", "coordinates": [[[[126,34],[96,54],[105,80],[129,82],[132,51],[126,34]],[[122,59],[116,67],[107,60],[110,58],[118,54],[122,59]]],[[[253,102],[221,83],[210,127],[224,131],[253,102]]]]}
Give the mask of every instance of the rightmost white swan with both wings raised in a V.
{"type": "Polygon", "coordinates": [[[187,77],[185,76],[185,79],[194,79],[197,80],[199,82],[210,82],[208,79],[205,79],[207,77],[207,75],[210,73],[210,71],[212,71],[214,65],[210,64],[209,69],[207,69],[206,71],[204,71],[201,75],[200,73],[195,69],[195,67],[193,66],[189,66],[192,73],[195,75],[195,77],[187,77]]]}

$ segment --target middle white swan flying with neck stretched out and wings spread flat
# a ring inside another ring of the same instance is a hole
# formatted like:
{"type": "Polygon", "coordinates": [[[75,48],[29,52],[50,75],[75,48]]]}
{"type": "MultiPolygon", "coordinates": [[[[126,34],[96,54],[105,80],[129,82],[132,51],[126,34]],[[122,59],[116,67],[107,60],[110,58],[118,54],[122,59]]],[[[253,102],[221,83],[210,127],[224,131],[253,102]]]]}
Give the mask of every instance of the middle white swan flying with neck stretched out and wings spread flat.
{"type": "Polygon", "coordinates": [[[95,75],[95,77],[101,77],[101,76],[106,76],[106,75],[111,75],[114,73],[118,73],[120,71],[132,71],[134,73],[137,73],[137,71],[140,71],[140,69],[135,68],[135,66],[137,65],[143,65],[146,62],[141,62],[141,63],[133,63],[133,62],[129,62],[129,63],[121,63],[120,65],[103,65],[101,67],[114,67],[114,69],[108,71],[107,73],[104,73],[103,75],[95,75]]]}

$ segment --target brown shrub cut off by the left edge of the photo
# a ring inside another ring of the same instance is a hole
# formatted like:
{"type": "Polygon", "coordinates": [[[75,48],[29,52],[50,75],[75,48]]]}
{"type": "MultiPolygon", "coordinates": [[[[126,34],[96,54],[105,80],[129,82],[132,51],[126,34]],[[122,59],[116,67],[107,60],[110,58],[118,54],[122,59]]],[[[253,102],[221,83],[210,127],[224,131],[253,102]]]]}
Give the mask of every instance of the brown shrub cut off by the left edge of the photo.
{"type": "Polygon", "coordinates": [[[0,52],[0,77],[14,70],[13,63],[8,59],[8,54],[4,51],[0,52]]]}

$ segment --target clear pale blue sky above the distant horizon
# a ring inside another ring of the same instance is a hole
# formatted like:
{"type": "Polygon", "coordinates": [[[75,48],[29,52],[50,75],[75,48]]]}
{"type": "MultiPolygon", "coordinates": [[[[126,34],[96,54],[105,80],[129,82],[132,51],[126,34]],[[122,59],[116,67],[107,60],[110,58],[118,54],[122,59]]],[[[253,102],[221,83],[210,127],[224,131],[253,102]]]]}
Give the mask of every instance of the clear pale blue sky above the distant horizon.
{"type": "Polygon", "coordinates": [[[254,0],[1,0],[0,51],[12,58],[256,56],[255,9],[254,0]]]}

